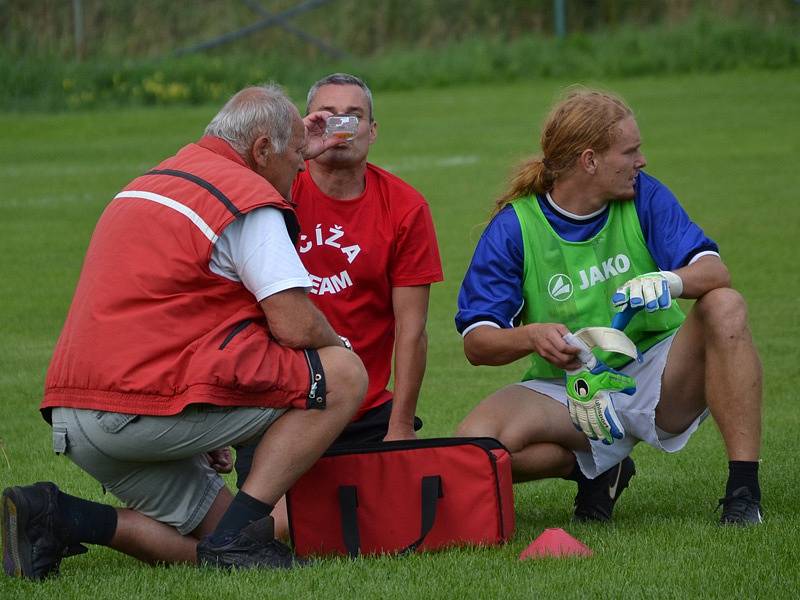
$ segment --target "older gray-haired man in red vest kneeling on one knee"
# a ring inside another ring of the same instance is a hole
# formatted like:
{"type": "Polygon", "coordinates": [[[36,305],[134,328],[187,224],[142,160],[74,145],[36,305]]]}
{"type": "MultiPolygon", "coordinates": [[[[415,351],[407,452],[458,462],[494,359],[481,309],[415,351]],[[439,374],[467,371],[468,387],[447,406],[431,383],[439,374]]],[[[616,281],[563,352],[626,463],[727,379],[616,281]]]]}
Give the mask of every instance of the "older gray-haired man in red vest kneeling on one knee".
{"type": "Polygon", "coordinates": [[[291,185],[324,140],[274,86],[108,205],[45,384],[54,450],[128,508],[49,482],[3,492],[3,567],[58,572],[84,543],[148,562],[290,567],[273,505],[341,432],[367,377],[307,298],[291,185]],[[269,260],[254,261],[254,256],[269,260]],[[269,435],[265,432],[269,430],[269,435]],[[236,497],[227,447],[258,440],[236,497]],[[199,542],[199,543],[198,543],[199,542]]]}

